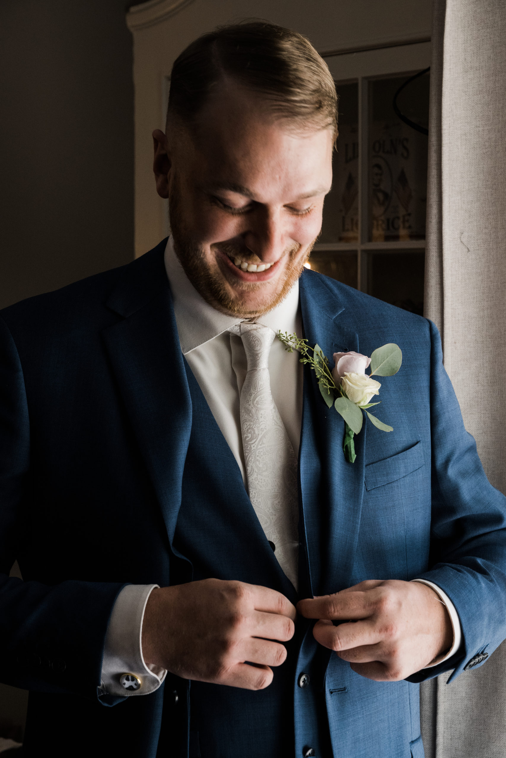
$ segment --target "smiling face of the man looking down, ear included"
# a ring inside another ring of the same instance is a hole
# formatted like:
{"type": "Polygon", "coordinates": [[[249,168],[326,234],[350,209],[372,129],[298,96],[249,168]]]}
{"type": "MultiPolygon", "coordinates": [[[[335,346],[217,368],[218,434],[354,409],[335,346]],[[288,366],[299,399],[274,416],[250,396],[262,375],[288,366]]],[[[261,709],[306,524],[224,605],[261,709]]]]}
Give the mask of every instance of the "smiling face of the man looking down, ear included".
{"type": "Polygon", "coordinates": [[[275,121],[259,96],[230,81],[196,127],[168,139],[153,133],[174,247],[207,302],[253,317],[288,293],[319,234],[333,134],[275,121]]]}

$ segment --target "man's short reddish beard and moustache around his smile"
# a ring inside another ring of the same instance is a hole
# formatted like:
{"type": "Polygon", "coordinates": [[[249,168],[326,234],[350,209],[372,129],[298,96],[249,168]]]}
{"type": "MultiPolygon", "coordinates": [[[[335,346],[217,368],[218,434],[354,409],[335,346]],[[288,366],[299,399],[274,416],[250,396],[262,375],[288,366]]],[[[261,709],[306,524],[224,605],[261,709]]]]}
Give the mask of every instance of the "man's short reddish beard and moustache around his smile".
{"type": "MultiPolygon", "coordinates": [[[[176,189],[171,192],[168,208],[172,239],[174,240],[174,251],[178,256],[184,273],[200,296],[206,302],[209,302],[209,305],[227,315],[253,318],[254,316],[272,311],[276,305],[284,300],[294,286],[294,283],[300,277],[300,274],[302,274],[304,264],[310,257],[311,250],[316,242],[316,240],[313,240],[313,243],[307,246],[306,252],[298,259],[296,259],[296,255],[300,252],[299,245],[294,245],[292,248],[284,251],[284,255],[288,255],[289,260],[284,270],[284,280],[281,288],[272,293],[262,303],[261,308],[250,311],[244,307],[244,303],[240,299],[240,293],[234,297],[228,292],[223,281],[223,274],[219,269],[218,274],[213,274],[212,271],[209,271],[203,249],[192,240],[190,233],[184,227],[183,215],[180,211],[180,196],[176,189]]],[[[233,243],[221,243],[219,249],[230,258],[239,257],[242,260],[256,258],[255,262],[258,261],[257,256],[245,246],[233,243]]],[[[243,290],[244,293],[255,292],[260,287],[262,287],[262,283],[240,282],[240,290],[243,290]]]]}

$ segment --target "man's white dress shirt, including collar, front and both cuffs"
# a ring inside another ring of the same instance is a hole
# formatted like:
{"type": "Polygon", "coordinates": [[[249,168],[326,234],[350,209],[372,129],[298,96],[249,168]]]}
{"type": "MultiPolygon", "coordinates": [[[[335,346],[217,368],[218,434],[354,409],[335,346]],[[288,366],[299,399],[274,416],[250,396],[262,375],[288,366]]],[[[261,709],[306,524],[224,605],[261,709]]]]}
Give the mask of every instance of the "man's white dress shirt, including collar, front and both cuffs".
{"type": "MultiPolygon", "coordinates": [[[[181,352],[234,453],[247,487],[239,415],[240,390],[247,372],[247,360],[240,337],[228,332],[243,319],[218,312],[200,296],[184,273],[171,238],[165,248],[165,270],[174,300],[181,352]]],[[[301,335],[298,281],[280,305],[256,321],[270,327],[276,334],[281,330],[301,335]]],[[[274,340],[269,354],[269,374],[274,402],[298,455],[303,384],[298,353],[287,352],[279,340],[274,340]]],[[[426,580],[414,581],[421,581],[435,590],[447,607],[453,625],[454,643],[448,653],[431,662],[430,666],[436,666],[460,647],[460,622],[451,600],[439,587],[426,580]]],[[[146,666],[141,646],[144,609],[150,592],[157,586],[129,584],[118,595],[105,639],[102,692],[120,696],[149,694],[159,688],[165,678],[165,669],[146,666]],[[119,680],[125,673],[139,678],[139,689],[127,691],[121,686],[119,680]]]]}

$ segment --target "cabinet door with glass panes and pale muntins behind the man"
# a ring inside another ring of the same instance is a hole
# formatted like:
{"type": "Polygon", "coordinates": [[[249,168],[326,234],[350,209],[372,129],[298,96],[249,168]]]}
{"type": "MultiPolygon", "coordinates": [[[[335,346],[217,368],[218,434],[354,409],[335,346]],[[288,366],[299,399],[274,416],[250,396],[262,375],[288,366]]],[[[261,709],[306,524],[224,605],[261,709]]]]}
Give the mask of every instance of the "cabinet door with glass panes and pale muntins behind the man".
{"type": "MultiPolygon", "coordinates": [[[[414,313],[423,312],[427,136],[394,111],[403,83],[429,66],[430,43],[328,57],[339,96],[334,181],[309,265],[414,313]],[[350,76],[350,74],[356,74],[350,76]]],[[[429,74],[397,105],[427,127],[429,74]]]]}

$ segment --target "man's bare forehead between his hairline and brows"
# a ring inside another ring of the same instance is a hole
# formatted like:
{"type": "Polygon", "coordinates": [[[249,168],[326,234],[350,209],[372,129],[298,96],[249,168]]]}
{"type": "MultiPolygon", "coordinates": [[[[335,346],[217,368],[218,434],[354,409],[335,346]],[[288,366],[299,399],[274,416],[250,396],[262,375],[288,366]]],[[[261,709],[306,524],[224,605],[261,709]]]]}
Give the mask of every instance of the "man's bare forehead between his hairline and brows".
{"type": "Polygon", "coordinates": [[[181,159],[206,183],[299,195],[332,183],[332,130],[275,118],[261,96],[238,86],[215,93],[188,139],[181,159]]]}

